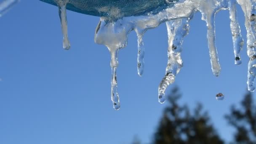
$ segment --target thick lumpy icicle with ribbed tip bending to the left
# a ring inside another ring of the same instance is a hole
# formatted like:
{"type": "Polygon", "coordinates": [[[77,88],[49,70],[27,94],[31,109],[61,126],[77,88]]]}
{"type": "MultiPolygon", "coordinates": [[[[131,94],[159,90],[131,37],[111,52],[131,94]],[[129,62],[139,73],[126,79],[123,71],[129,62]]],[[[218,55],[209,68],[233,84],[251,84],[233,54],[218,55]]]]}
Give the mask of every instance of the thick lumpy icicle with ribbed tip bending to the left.
{"type": "Polygon", "coordinates": [[[158,101],[165,102],[165,90],[172,84],[175,76],[179,73],[183,62],[181,59],[183,38],[189,32],[189,21],[187,19],[176,19],[166,22],[168,32],[168,64],[165,70],[165,77],[158,87],[158,101]]]}

